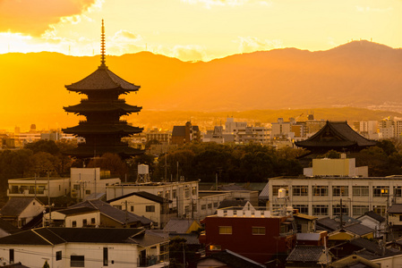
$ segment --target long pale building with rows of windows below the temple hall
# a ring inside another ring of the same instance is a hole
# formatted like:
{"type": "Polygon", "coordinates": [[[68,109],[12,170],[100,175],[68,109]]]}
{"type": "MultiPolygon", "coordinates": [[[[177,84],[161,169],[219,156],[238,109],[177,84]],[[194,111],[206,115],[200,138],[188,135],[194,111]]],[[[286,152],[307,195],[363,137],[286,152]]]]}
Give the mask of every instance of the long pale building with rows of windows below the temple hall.
{"type": "Polygon", "coordinates": [[[279,177],[269,179],[269,207],[293,205],[303,214],[317,217],[334,217],[340,214],[342,200],[343,214],[358,217],[368,211],[384,215],[387,202],[402,202],[402,177],[357,177],[350,159],[338,160],[345,165],[319,159],[317,163],[328,163],[327,169],[321,164],[312,166],[319,172],[314,177],[279,177]],[[335,167],[334,167],[335,165],[335,167]],[[355,174],[355,176],[353,176],[355,174]],[[286,197],[278,197],[279,189],[286,189],[286,197]]]}

